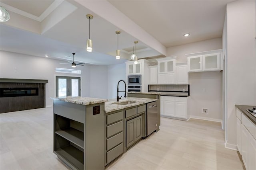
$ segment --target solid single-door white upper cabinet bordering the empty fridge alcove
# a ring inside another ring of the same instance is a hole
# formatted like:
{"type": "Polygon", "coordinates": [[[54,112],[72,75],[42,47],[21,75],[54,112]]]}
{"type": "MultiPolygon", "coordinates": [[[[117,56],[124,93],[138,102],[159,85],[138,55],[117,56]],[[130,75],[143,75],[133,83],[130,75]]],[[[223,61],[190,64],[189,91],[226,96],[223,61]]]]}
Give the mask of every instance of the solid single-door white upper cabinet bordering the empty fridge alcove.
{"type": "Polygon", "coordinates": [[[176,65],[176,84],[188,84],[187,65],[176,65]]]}

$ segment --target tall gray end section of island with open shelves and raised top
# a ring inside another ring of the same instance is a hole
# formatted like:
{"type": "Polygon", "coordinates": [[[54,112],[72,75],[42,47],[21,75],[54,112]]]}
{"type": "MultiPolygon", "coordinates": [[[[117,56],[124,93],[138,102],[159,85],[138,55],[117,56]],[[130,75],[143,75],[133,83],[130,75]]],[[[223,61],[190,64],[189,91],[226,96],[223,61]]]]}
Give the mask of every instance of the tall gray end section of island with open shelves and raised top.
{"type": "Polygon", "coordinates": [[[104,99],[52,98],[54,153],[72,169],[104,170],[104,99]]]}

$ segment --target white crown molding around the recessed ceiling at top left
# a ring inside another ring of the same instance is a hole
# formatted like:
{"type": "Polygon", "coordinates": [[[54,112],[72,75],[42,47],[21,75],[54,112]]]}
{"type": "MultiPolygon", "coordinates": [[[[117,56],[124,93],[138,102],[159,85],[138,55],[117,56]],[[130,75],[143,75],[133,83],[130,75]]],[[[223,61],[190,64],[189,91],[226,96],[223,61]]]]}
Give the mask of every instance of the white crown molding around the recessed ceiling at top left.
{"type": "Polygon", "coordinates": [[[51,12],[53,12],[63,1],[64,0],[54,0],[54,2],[52,2],[52,4],[50,6],[48,6],[48,8],[46,8],[46,10],[39,17],[35,16],[33,14],[30,14],[28,12],[19,10],[18,8],[14,8],[13,6],[4,4],[2,2],[0,2],[0,6],[3,6],[6,10],[9,10],[16,14],[20,14],[20,15],[30,18],[32,20],[42,22],[42,20],[44,20],[51,12]]]}

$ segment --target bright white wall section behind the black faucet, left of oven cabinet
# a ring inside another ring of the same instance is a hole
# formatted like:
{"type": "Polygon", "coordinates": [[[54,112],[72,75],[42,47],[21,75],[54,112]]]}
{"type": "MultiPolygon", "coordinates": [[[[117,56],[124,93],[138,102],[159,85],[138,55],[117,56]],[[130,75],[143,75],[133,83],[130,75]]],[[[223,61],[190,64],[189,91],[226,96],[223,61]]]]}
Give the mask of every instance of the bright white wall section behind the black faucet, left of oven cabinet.
{"type": "MultiPolygon", "coordinates": [[[[126,81],[126,64],[115,64],[108,66],[108,98],[116,98],[117,84],[119,80],[126,81]]],[[[126,82],[127,85],[127,82],[126,82]]],[[[124,91],[124,84],[120,82],[119,90],[124,91]]],[[[119,96],[124,96],[124,93],[120,92],[119,96]]]]}

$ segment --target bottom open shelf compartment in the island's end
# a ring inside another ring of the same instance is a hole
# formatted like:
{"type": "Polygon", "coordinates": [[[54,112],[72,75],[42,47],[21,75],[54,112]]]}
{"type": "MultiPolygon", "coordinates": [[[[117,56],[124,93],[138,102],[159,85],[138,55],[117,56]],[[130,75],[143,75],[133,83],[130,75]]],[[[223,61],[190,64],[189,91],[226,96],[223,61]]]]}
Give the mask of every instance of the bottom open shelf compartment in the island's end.
{"type": "Polygon", "coordinates": [[[56,150],[54,152],[78,169],[84,169],[84,152],[59,135],[56,135],[56,150]]]}

